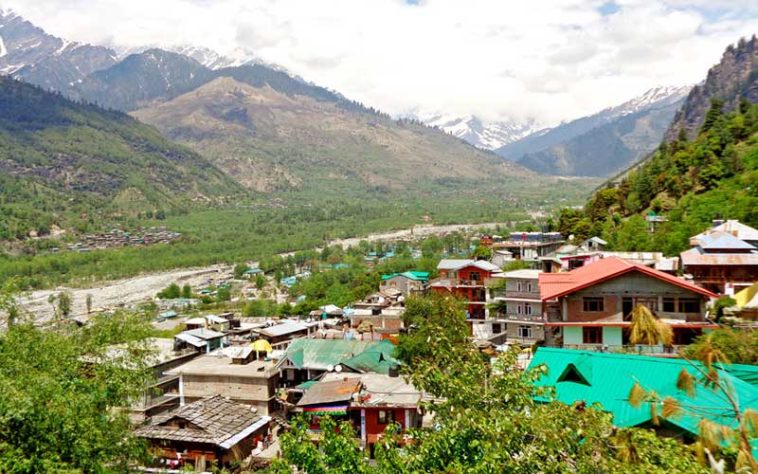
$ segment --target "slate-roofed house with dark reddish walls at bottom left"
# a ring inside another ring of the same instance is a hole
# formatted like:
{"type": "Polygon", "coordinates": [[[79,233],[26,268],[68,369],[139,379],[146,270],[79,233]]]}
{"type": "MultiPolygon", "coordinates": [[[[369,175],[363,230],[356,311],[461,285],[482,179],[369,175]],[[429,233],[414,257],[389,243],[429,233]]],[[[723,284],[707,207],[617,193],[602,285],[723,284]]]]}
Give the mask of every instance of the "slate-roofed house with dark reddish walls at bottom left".
{"type": "Polygon", "coordinates": [[[135,435],[147,440],[158,458],[156,465],[191,464],[205,471],[209,463],[228,467],[260,449],[269,437],[270,422],[269,416],[253,413],[249,406],[214,395],[153,418],[135,435]]]}

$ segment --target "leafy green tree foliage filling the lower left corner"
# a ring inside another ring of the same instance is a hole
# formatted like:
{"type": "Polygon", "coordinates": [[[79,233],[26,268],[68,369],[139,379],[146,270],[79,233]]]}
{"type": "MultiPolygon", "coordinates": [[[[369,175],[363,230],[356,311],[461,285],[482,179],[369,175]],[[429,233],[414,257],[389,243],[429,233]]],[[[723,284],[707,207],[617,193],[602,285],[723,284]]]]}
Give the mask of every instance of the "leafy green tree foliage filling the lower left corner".
{"type": "Polygon", "coordinates": [[[20,322],[0,335],[0,472],[121,473],[144,459],[119,408],[149,377],[140,321],[96,318],[86,331],[20,322]],[[106,356],[113,343],[129,350],[106,356]]]}

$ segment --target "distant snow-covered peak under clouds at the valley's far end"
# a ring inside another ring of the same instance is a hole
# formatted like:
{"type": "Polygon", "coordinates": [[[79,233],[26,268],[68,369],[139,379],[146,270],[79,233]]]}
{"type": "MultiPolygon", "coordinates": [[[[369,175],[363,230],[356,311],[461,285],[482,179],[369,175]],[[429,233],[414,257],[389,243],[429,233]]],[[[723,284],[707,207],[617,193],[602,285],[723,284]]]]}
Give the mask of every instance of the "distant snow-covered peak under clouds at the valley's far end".
{"type": "Polygon", "coordinates": [[[444,130],[477,148],[486,150],[495,150],[542,128],[535,120],[485,122],[475,115],[456,117],[444,114],[427,114],[414,115],[414,118],[430,127],[444,130]]]}

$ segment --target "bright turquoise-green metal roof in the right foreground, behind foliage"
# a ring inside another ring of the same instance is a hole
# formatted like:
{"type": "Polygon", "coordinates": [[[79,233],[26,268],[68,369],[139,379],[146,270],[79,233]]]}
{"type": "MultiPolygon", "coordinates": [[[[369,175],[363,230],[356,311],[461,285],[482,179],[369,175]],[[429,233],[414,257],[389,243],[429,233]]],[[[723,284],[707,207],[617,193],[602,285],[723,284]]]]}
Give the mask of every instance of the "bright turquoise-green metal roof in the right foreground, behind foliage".
{"type": "MultiPolygon", "coordinates": [[[[734,424],[734,419],[728,416],[728,403],[716,390],[698,382],[694,396],[690,397],[676,387],[682,369],[697,380],[701,378],[697,369],[682,359],[543,347],[537,350],[530,367],[540,364],[547,366],[548,374],[540,378],[536,385],[555,387],[557,400],[566,404],[578,401],[589,405],[599,403],[603,410],[613,415],[613,423],[619,427],[645,425],[651,421],[649,405],[634,408],[628,402],[635,381],[639,381],[645,390],[654,390],[661,398],[672,397],[682,405],[693,407],[692,410],[684,410],[678,417],[666,420],[692,435],[698,433],[701,416],[724,425],[734,424]],[[703,414],[695,415],[692,411],[703,414]]],[[[757,372],[745,367],[741,369],[742,373],[753,376],[757,372]]],[[[757,386],[746,382],[733,371],[720,370],[719,375],[734,387],[743,410],[758,409],[757,386]]]]}

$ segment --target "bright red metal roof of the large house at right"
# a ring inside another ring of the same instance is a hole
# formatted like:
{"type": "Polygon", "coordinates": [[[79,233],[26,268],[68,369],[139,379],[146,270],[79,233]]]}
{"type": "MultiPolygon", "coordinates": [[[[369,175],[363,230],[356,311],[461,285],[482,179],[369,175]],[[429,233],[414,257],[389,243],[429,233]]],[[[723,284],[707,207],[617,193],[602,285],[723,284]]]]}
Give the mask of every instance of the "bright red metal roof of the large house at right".
{"type": "Polygon", "coordinates": [[[606,280],[611,280],[635,271],[709,298],[716,297],[716,294],[705,288],[701,288],[693,283],[682,280],[681,278],[669,275],[668,273],[637,263],[632,263],[618,257],[607,257],[570,272],[540,274],[540,298],[542,301],[560,298],[561,296],[566,296],[606,280]]]}

